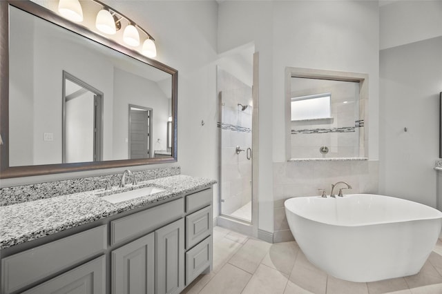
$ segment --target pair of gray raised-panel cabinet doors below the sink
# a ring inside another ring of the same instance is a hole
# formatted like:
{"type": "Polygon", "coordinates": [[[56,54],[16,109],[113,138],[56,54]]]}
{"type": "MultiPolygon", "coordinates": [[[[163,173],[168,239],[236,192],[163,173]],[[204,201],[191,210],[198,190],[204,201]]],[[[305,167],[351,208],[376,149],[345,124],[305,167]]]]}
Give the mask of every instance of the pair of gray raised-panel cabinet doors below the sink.
{"type": "Polygon", "coordinates": [[[184,220],[115,249],[111,257],[113,294],[180,293],[184,288],[184,220]]]}

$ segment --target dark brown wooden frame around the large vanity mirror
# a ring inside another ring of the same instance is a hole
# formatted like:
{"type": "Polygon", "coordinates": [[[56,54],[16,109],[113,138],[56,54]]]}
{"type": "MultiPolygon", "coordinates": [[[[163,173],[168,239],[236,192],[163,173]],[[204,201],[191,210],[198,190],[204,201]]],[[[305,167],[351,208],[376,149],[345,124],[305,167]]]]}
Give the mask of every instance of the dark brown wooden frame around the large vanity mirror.
{"type": "Polygon", "coordinates": [[[119,43],[107,39],[84,26],[70,22],[54,12],[28,0],[0,1],[0,179],[12,177],[28,177],[54,173],[71,173],[82,170],[118,168],[124,166],[140,166],[146,164],[164,164],[177,161],[177,70],[159,61],[149,59],[135,50],[126,48],[119,43]],[[172,77],[172,150],[171,157],[148,159],[122,159],[110,161],[91,161],[72,164],[45,164],[36,166],[9,166],[9,6],[14,6],[62,28],[73,31],[82,37],[91,39],[104,46],[122,52],[142,63],[167,72],[172,77]]]}

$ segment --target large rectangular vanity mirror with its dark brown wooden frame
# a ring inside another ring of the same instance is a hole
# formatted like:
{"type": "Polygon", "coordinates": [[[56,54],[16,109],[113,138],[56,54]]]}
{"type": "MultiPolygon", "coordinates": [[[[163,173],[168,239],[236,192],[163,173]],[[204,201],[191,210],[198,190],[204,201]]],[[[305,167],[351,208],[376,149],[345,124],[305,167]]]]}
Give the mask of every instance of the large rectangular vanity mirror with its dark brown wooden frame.
{"type": "Polygon", "coordinates": [[[0,11],[0,178],[177,160],[177,70],[31,1],[0,11]]]}

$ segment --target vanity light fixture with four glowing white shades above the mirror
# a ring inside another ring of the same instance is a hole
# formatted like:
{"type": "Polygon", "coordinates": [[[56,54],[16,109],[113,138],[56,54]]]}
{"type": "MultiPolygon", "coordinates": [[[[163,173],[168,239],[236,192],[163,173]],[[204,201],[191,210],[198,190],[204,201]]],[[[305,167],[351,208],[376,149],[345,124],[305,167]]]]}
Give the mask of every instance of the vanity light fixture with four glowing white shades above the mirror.
{"type": "MultiPolygon", "coordinates": [[[[122,28],[122,20],[125,19],[128,25],[124,28],[123,41],[128,46],[138,47],[140,46],[140,31],[146,35],[141,52],[143,55],[149,58],[157,56],[157,48],[155,46],[155,39],[146,32],[143,28],[138,26],[131,19],[126,17],[124,14],[117,12],[115,9],[107,6],[102,1],[91,0],[102,7],[99,10],[97,17],[95,19],[95,27],[100,32],[104,32],[107,35],[115,35],[117,30],[122,28]]],[[[70,21],[81,22],[83,21],[83,10],[79,0],[59,0],[59,13],[69,19],[70,21]]]]}

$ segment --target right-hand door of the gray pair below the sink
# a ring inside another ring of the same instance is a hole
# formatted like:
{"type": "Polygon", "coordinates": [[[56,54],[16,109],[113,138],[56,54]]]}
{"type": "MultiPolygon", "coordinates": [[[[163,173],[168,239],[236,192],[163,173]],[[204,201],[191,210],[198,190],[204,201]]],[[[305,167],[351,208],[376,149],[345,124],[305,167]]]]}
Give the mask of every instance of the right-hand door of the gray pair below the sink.
{"type": "Polygon", "coordinates": [[[180,293],[184,288],[184,219],[155,231],[157,294],[180,293]]]}

